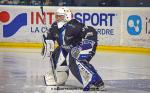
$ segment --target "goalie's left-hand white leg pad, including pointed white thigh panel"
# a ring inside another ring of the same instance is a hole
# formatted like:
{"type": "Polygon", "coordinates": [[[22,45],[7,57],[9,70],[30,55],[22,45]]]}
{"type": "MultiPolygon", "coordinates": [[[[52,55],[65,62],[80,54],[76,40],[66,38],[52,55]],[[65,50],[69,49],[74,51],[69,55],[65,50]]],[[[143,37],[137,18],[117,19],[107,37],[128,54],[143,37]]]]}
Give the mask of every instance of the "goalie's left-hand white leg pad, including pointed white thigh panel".
{"type": "Polygon", "coordinates": [[[54,78],[52,69],[45,75],[45,82],[46,85],[62,85],[68,79],[68,66],[62,66],[63,62],[65,61],[65,57],[62,51],[59,54],[58,63],[56,65],[55,74],[56,79],[54,78]]]}

